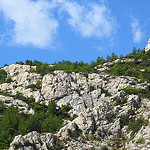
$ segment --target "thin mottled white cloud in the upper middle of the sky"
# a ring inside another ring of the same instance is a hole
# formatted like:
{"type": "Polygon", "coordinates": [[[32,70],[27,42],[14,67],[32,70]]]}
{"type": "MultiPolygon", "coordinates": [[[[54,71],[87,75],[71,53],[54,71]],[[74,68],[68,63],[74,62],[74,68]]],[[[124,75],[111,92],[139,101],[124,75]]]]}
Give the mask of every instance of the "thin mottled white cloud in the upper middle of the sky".
{"type": "Polygon", "coordinates": [[[87,3],[83,6],[66,0],[59,2],[63,11],[69,14],[68,23],[83,37],[109,37],[116,30],[116,21],[104,5],[87,3]]]}

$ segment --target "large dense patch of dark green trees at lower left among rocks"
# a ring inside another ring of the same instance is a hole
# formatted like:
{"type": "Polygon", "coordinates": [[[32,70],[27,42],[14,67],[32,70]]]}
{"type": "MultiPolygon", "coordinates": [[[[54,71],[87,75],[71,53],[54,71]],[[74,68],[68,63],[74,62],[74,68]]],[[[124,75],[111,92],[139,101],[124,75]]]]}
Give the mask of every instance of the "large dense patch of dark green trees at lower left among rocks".
{"type": "MultiPolygon", "coordinates": [[[[22,96],[22,95],[21,95],[22,96]]],[[[19,97],[21,97],[19,95],[19,97]]],[[[63,119],[69,119],[70,105],[58,107],[54,101],[48,106],[34,103],[31,105],[35,110],[34,115],[20,114],[16,108],[10,106],[5,109],[0,102],[0,149],[9,147],[10,142],[16,135],[25,135],[31,131],[56,133],[63,127],[63,119]]]]}

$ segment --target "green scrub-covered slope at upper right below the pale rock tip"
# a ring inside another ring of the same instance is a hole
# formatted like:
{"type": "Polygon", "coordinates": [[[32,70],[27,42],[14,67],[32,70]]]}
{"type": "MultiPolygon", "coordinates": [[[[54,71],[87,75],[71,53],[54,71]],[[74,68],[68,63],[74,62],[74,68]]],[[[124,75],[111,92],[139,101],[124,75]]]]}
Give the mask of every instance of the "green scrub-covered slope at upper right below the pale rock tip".
{"type": "Polygon", "coordinates": [[[106,72],[116,76],[133,76],[141,79],[141,81],[150,82],[150,51],[136,50],[134,47],[132,53],[126,55],[124,58],[133,59],[133,61],[119,61],[111,70],[107,70],[106,72]]]}

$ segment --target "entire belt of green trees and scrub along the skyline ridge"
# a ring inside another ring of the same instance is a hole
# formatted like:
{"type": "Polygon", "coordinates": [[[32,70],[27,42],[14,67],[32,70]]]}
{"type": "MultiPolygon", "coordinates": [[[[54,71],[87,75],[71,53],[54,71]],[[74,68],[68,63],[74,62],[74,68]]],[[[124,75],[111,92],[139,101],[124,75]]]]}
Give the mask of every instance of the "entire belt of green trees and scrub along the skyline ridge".
{"type": "MultiPolygon", "coordinates": [[[[29,72],[36,72],[41,75],[53,73],[53,71],[55,70],[63,70],[67,73],[83,72],[87,76],[88,73],[98,72],[95,69],[95,67],[97,67],[98,65],[102,65],[106,62],[112,62],[117,58],[118,56],[115,53],[112,53],[110,56],[107,55],[106,59],[98,56],[96,61],[92,60],[90,64],[84,63],[82,61],[72,63],[69,60],[59,61],[58,63],[54,62],[51,65],[49,65],[48,63],[39,62],[37,60],[26,60],[25,63],[22,61],[16,63],[21,65],[26,64],[30,66],[36,66],[36,69],[31,69],[29,72]]],[[[141,79],[141,82],[150,82],[150,51],[145,52],[144,49],[137,50],[134,47],[132,53],[129,53],[126,56],[123,56],[121,54],[120,61],[115,63],[110,70],[105,70],[105,72],[115,76],[133,76],[141,79]],[[123,60],[126,61],[124,62],[123,60]]]]}

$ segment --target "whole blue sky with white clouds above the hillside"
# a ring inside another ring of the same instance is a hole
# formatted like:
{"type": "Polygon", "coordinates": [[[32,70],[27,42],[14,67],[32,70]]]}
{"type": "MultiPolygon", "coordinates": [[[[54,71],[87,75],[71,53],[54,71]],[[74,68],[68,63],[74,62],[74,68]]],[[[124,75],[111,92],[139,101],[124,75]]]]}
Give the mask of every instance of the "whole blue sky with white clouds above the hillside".
{"type": "Polygon", "coordinates": [[[146,47],[149,0],[0,0],[0,66],[90,62],[146,47]]]}

